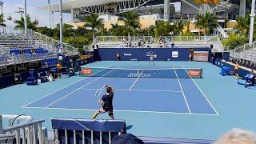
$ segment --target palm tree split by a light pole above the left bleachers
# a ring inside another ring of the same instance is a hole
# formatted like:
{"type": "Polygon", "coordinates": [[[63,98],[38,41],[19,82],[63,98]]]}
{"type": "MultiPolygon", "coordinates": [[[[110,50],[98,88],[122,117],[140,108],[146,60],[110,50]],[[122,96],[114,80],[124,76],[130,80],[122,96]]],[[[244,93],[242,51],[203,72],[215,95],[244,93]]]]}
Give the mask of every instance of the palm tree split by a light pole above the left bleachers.
{"type": "MultiPolygon", "coordinates": [[[[38,26],[38,20],[34,20],[34,22],[31,22],[31,18],[29,15],[26,16],[26,21],[27,21],[27,27],[36,30],[38,26]]],[[[15,20],[14,23],[16,24],[15,28],[24,28],[25,27],[25,22],[24,18],[22,17],[20,20],[15,20]]]]}

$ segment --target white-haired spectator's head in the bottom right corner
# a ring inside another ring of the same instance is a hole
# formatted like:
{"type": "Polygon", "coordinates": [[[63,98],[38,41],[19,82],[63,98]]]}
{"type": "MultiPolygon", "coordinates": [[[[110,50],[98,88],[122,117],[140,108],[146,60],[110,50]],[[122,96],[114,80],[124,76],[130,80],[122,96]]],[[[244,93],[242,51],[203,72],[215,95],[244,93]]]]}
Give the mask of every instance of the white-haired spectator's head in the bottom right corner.
{"type": "Polygon", "coordinates": [[[214,144],[254,144],[256,134],[253,131],[233,129],[223,134],[214,144]]]}

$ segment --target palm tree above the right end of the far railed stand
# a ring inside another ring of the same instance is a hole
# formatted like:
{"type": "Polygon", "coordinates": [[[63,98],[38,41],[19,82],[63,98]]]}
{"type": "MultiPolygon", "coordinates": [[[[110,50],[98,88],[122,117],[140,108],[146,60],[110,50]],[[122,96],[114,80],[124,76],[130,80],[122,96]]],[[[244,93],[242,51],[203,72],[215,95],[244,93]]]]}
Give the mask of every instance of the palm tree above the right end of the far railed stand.
{"type": "Polygon", "coordinates": [[[210,34],[210,31],[218,27],[217,17],[215,17],[212,13],[206,12],[206,14],[199,15],[196,26],[204,29],[205,35],[210,34]]]}

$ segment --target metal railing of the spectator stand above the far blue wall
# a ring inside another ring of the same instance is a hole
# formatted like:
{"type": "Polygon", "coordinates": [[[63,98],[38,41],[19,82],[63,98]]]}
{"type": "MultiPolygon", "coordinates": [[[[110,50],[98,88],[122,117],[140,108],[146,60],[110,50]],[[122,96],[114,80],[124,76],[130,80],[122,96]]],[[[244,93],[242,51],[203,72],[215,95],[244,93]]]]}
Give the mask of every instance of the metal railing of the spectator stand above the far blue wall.
{"type": "Polygon", "coordinates": [[[223,52],[223,46],[218,36],[166,36],[160,38],[153,37],[128,37],[126,36],[99,36],[97,45],[99,47],[172,47],[175,46],[210,46],[213,45],[215,52],[223,52]],[[141,42],[141,46],[138,46],[141,42]]]}

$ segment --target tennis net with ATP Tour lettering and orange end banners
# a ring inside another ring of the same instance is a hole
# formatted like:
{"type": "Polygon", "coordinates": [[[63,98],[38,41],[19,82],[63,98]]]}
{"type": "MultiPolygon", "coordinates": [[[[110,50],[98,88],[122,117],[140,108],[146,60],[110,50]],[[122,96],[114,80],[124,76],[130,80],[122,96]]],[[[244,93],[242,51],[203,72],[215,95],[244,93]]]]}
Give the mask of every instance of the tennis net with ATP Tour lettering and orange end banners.
{"type": "Polygon", "coordinates": [[[113,78],[202,78],[202,68],[126,69],[82,67],[80,76],[113,78]]]}

